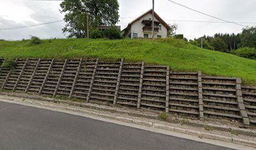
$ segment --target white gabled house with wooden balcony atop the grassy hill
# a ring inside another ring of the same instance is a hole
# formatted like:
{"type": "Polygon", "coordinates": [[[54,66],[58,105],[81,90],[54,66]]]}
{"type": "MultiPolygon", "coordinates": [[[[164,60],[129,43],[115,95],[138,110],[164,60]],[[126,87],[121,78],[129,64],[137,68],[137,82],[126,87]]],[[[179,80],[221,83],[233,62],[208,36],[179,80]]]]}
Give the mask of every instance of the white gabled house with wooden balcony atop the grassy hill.
{"type": "MultiPolygon", "coordinates": [[[[171,29],[161,17],[154,12],[154,37],[166,38],[171,29]]],[[[123,35],[129,38],[151,38],[152,37],[152,9],[137,17],[122,30],[123,35]]]]}

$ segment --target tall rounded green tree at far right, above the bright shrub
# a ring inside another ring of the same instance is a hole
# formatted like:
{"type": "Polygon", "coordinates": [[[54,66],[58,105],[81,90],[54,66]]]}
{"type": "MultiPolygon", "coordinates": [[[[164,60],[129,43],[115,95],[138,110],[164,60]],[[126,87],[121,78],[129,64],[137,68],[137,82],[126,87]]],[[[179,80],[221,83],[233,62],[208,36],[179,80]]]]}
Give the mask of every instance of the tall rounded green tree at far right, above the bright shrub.
{"type": "Polygon", "coordinates": [[[241,43],[239,47],[254,47],[256,48],[256,26],[243,29],[240,35],[241,43]]]}

